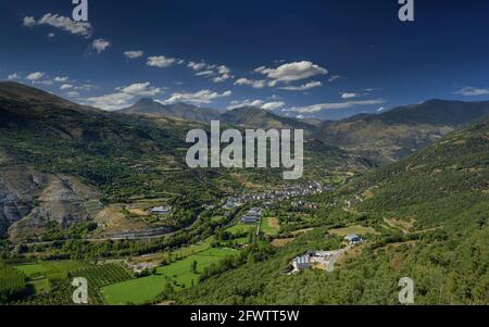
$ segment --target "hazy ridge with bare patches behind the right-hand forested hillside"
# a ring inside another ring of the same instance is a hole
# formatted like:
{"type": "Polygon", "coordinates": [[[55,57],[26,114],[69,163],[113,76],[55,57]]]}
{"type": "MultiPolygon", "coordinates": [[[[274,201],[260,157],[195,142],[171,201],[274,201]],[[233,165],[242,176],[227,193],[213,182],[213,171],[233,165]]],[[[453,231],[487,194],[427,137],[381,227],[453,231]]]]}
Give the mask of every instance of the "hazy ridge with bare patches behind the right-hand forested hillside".
{"type": "Polygon", "coordinates": [[[339,122],[324,122],[315,136],[377,163],[388,163],[488,115],[489,101],[435,99],[381,114],[360,114],[339,122]]]}

